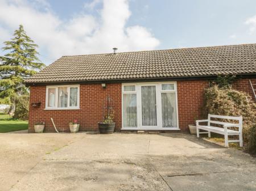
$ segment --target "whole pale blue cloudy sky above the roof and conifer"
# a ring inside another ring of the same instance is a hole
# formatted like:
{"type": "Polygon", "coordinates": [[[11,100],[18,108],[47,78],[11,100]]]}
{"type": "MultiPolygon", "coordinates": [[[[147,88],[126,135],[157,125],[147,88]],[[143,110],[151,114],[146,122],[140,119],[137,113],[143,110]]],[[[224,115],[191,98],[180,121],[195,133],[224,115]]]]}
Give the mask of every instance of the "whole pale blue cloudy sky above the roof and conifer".
{"type": "Polygon", "coordinates": [[[49,64],[114,46],[126,52],[256,43],[256,1],[0,0],[1,46],[18,24],[49,64]]]}

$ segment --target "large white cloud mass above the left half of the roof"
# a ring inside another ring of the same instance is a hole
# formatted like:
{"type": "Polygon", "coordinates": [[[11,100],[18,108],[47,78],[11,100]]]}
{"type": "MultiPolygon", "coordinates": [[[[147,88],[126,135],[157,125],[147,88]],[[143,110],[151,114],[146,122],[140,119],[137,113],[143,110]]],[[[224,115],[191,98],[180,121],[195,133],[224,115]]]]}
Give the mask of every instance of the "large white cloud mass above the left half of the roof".
{"type": "MultiPolygon", "coordinates": [[[[40,9],[27,0],[0,0],[1,35],[2,31],[12,34],[23,24],[39,51],[55,59],[67,54],[109,53],[113,47],[124,52],[155,49],[159,45],[149,29],[126,27],[131,15],[127,0],[104,0],[99,17],[80,12],[69,20],[61,20],[46,0],[37,1],[40,9]]],[[[91,7],[97,3],[94,0],[91,7]]]]}

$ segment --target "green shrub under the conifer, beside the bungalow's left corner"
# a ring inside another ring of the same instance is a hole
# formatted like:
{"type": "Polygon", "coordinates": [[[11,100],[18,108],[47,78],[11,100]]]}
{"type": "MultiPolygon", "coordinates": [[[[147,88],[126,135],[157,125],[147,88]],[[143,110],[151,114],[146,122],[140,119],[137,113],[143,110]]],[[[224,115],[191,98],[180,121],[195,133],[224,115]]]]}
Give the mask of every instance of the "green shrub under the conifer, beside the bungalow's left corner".
{"type": "Polygon", "coordinates": [[[13,118],[18,118],[19,120],[28,120],[29,99],[30,96],[27,94],[16,97],[13,118]]]}

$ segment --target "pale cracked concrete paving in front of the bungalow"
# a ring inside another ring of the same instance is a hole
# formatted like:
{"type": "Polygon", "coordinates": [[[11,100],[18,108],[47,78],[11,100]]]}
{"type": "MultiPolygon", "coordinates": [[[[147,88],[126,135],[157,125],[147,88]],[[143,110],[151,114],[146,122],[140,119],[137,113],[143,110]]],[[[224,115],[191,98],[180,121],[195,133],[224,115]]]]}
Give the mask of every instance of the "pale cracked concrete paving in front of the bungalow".
{"type": "Polygon", "coordinates": [[[0,134],[0,190],[256,190],[256,159],[187,134],[0,134]]]}

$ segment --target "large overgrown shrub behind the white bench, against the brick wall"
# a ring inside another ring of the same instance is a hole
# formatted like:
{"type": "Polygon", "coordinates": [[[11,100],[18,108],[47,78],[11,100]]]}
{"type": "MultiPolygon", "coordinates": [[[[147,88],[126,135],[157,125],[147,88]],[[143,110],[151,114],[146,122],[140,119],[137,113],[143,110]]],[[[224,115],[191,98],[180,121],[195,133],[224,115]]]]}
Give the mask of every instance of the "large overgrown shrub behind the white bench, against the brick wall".
{"type": "Polygon", "coordinates": [[[205,90],[205,116],[220,114],[223,116],[243,117],[243,140],[248,143],[251,128],[256,123],[256,104],[245,92],[231,87],[220,88],[217,85],[205,90]]]}

